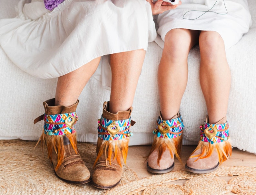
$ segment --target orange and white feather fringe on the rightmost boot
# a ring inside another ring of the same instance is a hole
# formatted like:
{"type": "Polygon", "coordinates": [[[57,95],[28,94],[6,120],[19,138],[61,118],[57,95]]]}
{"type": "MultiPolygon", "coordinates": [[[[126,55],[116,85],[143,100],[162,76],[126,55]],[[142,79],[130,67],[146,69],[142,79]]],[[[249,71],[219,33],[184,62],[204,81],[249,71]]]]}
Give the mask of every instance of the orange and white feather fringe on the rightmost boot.
{"type": "Polygon", "coordinates": [[[214,143],[211,144],[209,142],[203,142],[199,141],[196,149],[192,152],[190,158],[198,157],[194,162],[196,162],[199,159],[208,158],[212,155],[213,151],[216,151],[219,156],[219,162],[220,164],[231,156],[232,154],[232,145],[229,142],[229,140],[220,142],[220,143],[214,143]],[[193,155],[196,151],[202,150],[200,154],[193,155]]]}

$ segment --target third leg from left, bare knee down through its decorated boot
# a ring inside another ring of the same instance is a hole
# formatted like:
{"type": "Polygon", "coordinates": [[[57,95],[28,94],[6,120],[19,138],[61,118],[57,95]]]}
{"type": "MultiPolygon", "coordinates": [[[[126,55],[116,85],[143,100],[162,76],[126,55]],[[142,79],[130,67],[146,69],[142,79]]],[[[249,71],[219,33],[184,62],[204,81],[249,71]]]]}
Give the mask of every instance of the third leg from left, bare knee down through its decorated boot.
{"type": "Polygon", "coordinates": [[[148,156],[147,170],[149,172],[172,171],[174,154],[180,160],[183,123],[181,116],[177,113],[187,84],[188,54],[197,43],[198,35],[198,31],[173,29],[165,36],[158,69],[161,113],[157,120],[158,128],[154,130],[156,135],[148,156]],[[170,133],[171,128],[172,133],[170,133]]]}

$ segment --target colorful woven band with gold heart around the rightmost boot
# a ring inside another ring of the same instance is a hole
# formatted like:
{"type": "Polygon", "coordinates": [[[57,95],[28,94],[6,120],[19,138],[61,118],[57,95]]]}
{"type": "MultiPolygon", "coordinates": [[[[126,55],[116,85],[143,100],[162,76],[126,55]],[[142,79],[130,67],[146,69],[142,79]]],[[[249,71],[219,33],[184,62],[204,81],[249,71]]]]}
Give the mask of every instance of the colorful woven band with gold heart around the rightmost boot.
{"type": "Polygon", "coordinates": [[[223,142],[229,139],[229,124],[228,122],[223,124],[209,124],[204,122],[204,125],[200,125],[201,129],[201,141],[213,143],[223,142]]]}

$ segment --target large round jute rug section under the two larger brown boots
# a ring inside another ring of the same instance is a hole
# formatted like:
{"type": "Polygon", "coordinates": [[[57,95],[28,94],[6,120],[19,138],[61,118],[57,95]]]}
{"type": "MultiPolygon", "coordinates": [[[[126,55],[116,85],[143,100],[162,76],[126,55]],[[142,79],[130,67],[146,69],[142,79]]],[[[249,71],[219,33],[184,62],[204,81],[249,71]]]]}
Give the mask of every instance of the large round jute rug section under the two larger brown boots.
{"type": "MultiPolygon", "coordinates": [[[[94,188],[91,183],[72,185],[58,179],[53,166],[42,151],[41,144],[22,140],[0,140],[0,194],[86,194],[102,195],[106,190],[94,188]]],[[[92,172],[96,146],[78,143],[79,153],[92,172]]],[[[137,174],[127,166],[118,185],[137,180],[137,174]]]]}

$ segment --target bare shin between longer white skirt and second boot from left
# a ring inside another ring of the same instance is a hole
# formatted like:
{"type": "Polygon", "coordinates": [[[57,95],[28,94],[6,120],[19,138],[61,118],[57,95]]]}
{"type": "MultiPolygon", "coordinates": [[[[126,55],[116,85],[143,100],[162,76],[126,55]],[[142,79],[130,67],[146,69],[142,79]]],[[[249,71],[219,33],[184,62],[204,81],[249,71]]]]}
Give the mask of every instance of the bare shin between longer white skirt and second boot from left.
{"type": "Polygon", "coordinates": [[[141,49],[110,55],[112,84],[109,112],[126,111],[132,106],[145,53],[141,49]]]}

